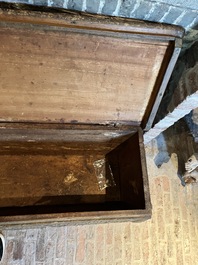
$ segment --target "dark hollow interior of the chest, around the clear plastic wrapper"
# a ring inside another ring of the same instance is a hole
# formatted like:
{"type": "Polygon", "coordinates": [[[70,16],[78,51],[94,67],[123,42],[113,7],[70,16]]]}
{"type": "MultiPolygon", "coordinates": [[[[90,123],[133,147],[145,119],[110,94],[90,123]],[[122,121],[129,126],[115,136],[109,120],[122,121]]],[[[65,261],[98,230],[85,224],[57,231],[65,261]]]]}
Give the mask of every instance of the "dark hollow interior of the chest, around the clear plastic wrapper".
{"type": "Polygon", "coordinates": [[[139,131],[134,127],[1,125],[0,215],[145,209],[139,131]],[[106,161],[100,190],[94,162],[106,161]]]}

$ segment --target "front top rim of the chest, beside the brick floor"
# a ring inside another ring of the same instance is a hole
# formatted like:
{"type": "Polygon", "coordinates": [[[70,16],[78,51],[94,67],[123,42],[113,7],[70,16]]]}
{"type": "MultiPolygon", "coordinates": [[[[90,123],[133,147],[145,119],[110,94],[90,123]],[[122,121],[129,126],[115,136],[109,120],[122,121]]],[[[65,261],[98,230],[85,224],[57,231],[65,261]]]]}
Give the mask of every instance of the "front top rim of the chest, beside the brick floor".
{"type": "Polygon", "coordinates": [[[55,214],[37,214],[37,215],[15,215],[1,216],[0,226],[4,225],[35,225],[50,223],[68,223],[68,224],[88,224],[88,223],[106,223],[106,222],[141,222],[151,218],[151,209],[146,210],[125,210],[108,212],[83,212],[83,213],[55,213],[55,214]]]}

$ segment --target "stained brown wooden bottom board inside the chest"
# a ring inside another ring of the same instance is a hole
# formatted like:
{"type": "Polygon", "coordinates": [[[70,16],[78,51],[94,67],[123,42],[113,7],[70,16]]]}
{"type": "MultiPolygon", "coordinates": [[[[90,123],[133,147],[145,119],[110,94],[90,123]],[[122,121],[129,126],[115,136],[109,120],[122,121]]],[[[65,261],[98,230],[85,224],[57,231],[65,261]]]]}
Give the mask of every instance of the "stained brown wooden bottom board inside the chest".
{"type": "Polygon", "coordinates": [[[0,156],[0,207],[105,202],[93,162],[102,155],[0,156]],[[14,189],[13,189],[14,187],[14,189]]]}

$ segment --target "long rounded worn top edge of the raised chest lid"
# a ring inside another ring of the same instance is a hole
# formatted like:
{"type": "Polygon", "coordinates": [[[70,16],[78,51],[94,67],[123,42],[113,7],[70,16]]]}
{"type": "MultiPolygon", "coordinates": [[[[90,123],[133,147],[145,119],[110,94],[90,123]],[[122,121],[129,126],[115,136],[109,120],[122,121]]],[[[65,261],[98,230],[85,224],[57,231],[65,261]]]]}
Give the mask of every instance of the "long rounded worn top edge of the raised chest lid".
{"type": "Polygon", "coordinates": [[[0,3],[0,21],[182,38],[180,26],[25,4],[0,3]]]}

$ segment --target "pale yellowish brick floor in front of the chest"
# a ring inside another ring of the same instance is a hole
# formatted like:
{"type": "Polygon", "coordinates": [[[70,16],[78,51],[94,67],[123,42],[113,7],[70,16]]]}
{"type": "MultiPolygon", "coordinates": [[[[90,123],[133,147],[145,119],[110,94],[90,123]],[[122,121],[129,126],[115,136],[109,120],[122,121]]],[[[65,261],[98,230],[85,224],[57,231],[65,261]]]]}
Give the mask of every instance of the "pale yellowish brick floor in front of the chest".
{"type": "Polygon", "coordinates": [[[152,219],[143,223],[6,227],[4,265],[198,264],[198,186],[183,187],[177,157],[157,168],[146,147],[152,219]]]}

